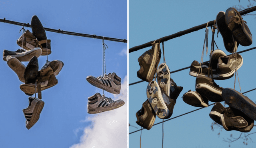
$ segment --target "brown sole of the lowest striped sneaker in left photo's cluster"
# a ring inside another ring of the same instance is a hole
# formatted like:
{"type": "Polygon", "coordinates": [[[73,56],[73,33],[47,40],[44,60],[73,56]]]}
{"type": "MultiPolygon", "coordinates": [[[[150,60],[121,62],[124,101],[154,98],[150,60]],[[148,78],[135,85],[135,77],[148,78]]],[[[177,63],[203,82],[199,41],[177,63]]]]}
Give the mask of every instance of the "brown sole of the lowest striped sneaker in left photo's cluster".
{"type": "MultiPolygon", "coordinates": [[[[34,108],[34,111],[32,116],[31,116],[31,119],[29,121],[29,124],[26,125],[26,128],[28,128],[28,130],[34,125],[36,124],[36,122],[39,120],[39,117],[40,117],[40,113],[42,112],[44,108],[44,101],[40,100],[38,101],[38,103],[36,103],[36,106],[34,108]]],[[[24,112],[24,110],[23,110],[24,112]]]]}

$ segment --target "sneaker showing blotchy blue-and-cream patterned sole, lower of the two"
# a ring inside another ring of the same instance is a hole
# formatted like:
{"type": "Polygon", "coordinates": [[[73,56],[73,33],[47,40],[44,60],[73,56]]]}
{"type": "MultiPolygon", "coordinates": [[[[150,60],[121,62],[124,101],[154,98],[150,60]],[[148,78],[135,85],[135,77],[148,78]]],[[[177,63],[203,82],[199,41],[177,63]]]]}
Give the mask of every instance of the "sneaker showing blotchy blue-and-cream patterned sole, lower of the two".
{"type": "Polygon", "coordinates": [[[151,81],[147,86],[147,97],[156,115],[164,119],[169,116],[169,110],[164,103],[161,89],[156,81],[151,81]]]}

